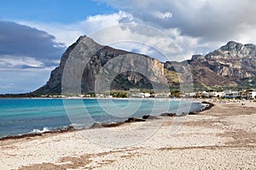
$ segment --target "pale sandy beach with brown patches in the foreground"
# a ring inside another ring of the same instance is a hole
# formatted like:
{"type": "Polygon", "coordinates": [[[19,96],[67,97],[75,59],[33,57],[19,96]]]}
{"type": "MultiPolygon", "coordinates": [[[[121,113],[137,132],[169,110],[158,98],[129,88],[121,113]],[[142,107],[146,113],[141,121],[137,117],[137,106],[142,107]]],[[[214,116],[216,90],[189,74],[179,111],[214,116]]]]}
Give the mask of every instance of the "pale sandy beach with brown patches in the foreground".
{"type": "Polygon", "coordinates": [[[256,169],[256,103],[0,141],[0,169],[256,169]]]}

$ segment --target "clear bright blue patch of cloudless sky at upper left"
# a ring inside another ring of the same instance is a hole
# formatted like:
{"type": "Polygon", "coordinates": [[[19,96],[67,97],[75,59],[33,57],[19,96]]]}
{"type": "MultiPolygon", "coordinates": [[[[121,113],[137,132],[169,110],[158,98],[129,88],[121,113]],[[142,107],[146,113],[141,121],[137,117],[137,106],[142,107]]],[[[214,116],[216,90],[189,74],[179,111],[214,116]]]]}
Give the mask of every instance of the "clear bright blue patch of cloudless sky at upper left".
{"type": "Polygon", "coordinates": [[[84,20],[89,15],[112,14],[116,9],[90,0],[8,0],[0,1],[2,20],[35,20],[64,24],[84,20]]]}

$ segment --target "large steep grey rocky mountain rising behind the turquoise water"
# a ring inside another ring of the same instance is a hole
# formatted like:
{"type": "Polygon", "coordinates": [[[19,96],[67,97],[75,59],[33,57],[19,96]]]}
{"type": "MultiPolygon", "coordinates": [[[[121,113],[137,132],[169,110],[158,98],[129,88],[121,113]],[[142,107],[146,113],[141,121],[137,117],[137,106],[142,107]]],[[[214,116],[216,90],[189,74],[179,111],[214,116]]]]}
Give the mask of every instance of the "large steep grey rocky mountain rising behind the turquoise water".
{"type": "Polygon", "coordinates": [[[102,46],[84,36],[67,48],[49,81],[34,93],[153,88],[161,87],[165,82],[164,64],[159,60],[102,46]]]}

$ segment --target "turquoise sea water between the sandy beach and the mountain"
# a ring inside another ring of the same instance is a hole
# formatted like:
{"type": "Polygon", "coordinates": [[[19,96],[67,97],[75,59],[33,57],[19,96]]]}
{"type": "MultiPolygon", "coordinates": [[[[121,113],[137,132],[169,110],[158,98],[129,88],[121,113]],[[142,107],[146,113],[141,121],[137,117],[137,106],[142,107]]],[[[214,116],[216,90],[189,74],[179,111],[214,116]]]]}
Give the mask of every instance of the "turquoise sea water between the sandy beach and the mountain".
{"type": "Polygon", "coordinates": [[[200,103],[168,99],[0,99],[0,138],[69,125],[123,122],[128,117],[199,111],[200,103]]]}

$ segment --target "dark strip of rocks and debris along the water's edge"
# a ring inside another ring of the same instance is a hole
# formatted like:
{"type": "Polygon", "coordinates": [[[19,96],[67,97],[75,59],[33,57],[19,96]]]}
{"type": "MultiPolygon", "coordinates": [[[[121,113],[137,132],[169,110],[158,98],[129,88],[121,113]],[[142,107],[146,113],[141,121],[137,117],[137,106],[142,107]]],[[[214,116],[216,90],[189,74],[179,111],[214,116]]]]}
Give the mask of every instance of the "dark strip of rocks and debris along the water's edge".
{"type": "MultiPolygon", "coordinates": [[[[211,102],[208,102],[208,101],[205,101],[205,100],[203,100],[203,101],[195,100],[195,101],[192,101],[192,102],[198,102],[198,103],[204,104],[206,106],[203,109],[201,109],[200,111],[189,111],[188,113],[182,113],[181,115],[177,115],[177,113],[166,112],[166,113],[160,113],[159,116],[196,115],[196,114],[199,114],[201,111],[209,110],[214,106],[211,102]]],[[[9,139],[32,138],[32,137],[37,137],[37,136],[43,136],[44,134],[47,134],[47,133],[68,133],[68,132],[81,131],[81,130],[87,130],[87,129],[92,129],[92,128],[118,127],[118,126],[120,126],[122,124],[125,124],[125,123],[146,122],[147,119],[151,119],[151,120],[152,119],[157,119],[159,116],[144,115],[142,117],[129,117],[124,122],[110,122],[110,123],[95,122],[93,125],[91,125],[91,127],[82,127],[82,128],[79,128],[79,129],[76,129],[75,127],[73,127],[73,125],[68,125],[67,127],[58,127],[55,130],[50,130],[50,131],[46,131],[46,132],[43,132],[43,133],[23,133],[23,134],[18,134],[18,135],[9,135],[9,136],[5,136],[5,137],[0,138],[0,141],[9,140],[9,139]],[[147,117],[147,118],[143,118],[143,117],[147,117]],[[152,118],[152,117],[154,117],[154,118],[152,118]]]]}

